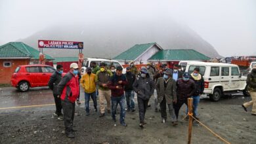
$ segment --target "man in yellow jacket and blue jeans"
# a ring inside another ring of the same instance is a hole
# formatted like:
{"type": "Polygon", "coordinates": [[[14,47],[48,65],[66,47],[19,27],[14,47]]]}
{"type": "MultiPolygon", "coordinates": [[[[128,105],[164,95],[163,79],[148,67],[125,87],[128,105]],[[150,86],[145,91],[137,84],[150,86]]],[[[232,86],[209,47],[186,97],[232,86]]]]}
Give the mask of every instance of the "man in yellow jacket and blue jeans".
{"type": "Polygon", "coordinates": [[[97,110],[97,99],[96,99],[96,82],[95,82],[95,74],[92,73],[91,67],[86,69],[86,74],[83,75],[80,81],[83,89],[85,90],[85,112],[86,115],[90,115],[89,109],[89,101],[90,97],[93,99],[93,104],[95,106],[95,112],[97,110]]]}

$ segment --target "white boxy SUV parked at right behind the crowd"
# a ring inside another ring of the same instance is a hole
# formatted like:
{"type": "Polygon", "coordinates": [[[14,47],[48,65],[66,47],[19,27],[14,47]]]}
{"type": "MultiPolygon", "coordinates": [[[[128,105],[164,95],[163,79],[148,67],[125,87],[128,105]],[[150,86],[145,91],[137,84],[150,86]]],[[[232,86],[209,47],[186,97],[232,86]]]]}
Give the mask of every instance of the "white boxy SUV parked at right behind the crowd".
{"type": "Polygon", "coordinates": [[[194,68],[200,69],[205,81],[205,90],[203,93],[208,94],[212,101],[219,101],[221,96],[230,92],[247,92],[246,79],[242,77],[238,65],[228,63],[209,63],[209,62],[188,62],[186,72],[192,73],[194,68]]]}

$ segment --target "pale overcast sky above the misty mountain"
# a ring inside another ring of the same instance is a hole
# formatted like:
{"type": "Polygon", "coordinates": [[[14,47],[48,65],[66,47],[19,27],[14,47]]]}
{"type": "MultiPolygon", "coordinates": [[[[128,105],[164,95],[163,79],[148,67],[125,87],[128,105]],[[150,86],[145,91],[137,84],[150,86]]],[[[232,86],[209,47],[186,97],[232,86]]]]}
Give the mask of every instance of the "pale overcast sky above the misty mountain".
{"type": "Polygon", "coordinates": [[[0,0],[0,45],[56,25],[159,17],[191,27],[222,56],[256,55],[255,0],[0,0]]]}

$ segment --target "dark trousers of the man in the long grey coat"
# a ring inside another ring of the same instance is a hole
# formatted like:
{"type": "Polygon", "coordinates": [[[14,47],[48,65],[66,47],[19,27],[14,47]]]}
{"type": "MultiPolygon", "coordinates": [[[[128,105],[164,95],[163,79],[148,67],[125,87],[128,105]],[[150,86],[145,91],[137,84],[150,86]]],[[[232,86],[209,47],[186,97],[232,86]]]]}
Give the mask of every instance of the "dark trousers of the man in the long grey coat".
{"type": "MultiPolygon", "coordinates": [[[[171,116],[171,122],[177,121],[177,118],[175,116],[174,109],[173,109],[173,103],[168,104],[168,108],[169,108],[169,114],[171,116]]],[[[166,120],[167,119],[167,113],[166,113],[166,99],[165,99],[165,96],[163,97],[163,100],[160,103],[160,111],[161,111],[161,118],[166,120]]]]}

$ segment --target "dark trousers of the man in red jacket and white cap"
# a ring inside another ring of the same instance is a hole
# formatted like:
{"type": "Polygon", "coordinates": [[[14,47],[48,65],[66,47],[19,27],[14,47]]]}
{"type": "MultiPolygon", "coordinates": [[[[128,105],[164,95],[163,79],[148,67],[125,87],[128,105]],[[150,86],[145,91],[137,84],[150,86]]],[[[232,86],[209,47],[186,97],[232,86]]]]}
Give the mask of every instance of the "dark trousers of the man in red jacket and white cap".
{"type": "Polygon", "coordinates": [[[75,117],[75,103],[70,101],[61,101],[64,114],[64,126],[66,132],[71,132],[73,129],[73,120],[75,117]]]}

